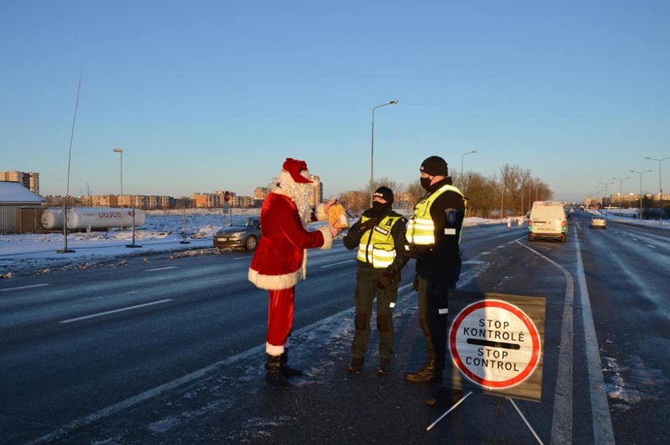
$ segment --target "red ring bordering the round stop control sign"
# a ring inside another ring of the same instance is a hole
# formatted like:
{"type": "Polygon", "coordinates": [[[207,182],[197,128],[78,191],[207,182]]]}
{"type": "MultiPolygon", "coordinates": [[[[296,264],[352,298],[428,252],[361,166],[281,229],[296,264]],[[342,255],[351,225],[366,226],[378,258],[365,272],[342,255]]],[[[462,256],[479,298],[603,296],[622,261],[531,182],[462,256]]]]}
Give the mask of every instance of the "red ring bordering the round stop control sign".
{"type": "Polygon", "coordinates": [[[469,305],[467,308],[461,310],[460,313],[456,316],[455,320],[453,320],[453,323],[451,325],[451,331],[449,333],[449,349],[451,351],[451,355],[453,357],[455,365],[458,367],[460,372],[463,372],[463,374],[466,377],[468,377],[468,379],[482,385],[483,387],[505,389],[507,387],[513,387],[517,384],[520,384],[525,379],[527,379],[527,377],[529,377],[535,370],[537,363],[540,361],[540,333],[537,332],[537,328],[535,328],[535,325],[532,323],[530,318],[528,318],[527,315],[523,313],[522,310],[517,308],[515,305],[500,300],[482,300],[473,303],[469,305]],[[532,340],[532,351],[530,360],[528,361],[528,365],[526,365],[526,367],[516,377],[512,377],[511,379],[507,380],[502,380],[500,382],[493,382],[491,380],[483,379],[482,377],[476,375],[474,372],[470,371],[468,367],[463,363],[463,360],[460,360],[460,355],[458,354],[458,350],[456,348],[456,333],[458,333],[460,323],[463,323],[465,317],[470,315],[470,313],[473,313],[475,310],[479,310],[482,308],[500,308],[503,310],[510,311],[524,323],[524,325],[528,329],[528,332],[530,333],[530,338],[532,340]]]}

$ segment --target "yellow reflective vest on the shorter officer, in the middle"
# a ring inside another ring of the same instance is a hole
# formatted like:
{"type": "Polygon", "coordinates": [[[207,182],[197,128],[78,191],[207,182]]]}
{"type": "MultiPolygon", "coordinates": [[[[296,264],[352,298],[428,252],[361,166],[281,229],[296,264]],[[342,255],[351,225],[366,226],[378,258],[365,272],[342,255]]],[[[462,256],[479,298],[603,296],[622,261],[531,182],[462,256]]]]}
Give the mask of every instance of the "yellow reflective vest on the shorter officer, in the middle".
{"type": "MultiPolygon", "coordinates": [[[[371,264],[373,268],[383,269],[391,266],[396,258],[396,246],[393,242],[391,229],[402,216],[384,216],[373,229],[365,231],[359,242],[359,252],[356,259],[371,264]]],[[[361,217],[361,223],[367,221],[368,216],[361,217]]]]}

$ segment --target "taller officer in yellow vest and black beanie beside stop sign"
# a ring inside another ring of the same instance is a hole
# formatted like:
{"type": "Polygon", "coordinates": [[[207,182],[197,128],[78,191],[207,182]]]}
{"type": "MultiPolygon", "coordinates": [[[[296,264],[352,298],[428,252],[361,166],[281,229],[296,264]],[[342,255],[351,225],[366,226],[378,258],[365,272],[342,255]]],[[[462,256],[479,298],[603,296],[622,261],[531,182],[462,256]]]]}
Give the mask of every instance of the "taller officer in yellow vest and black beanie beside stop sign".
{"type": "Polygon", "coordinates": [[[421,164],[421,186],[426,189],[407,223],[406,249],[416,258],[414,287],[418,290],[419,322],[426,336],[428,361],[407,372],[408,382],[441,382],[447,342],[449,289],[460,275],[460,231],[467,199],[453,187],[447,162],[439,156],[421,164]]]}

